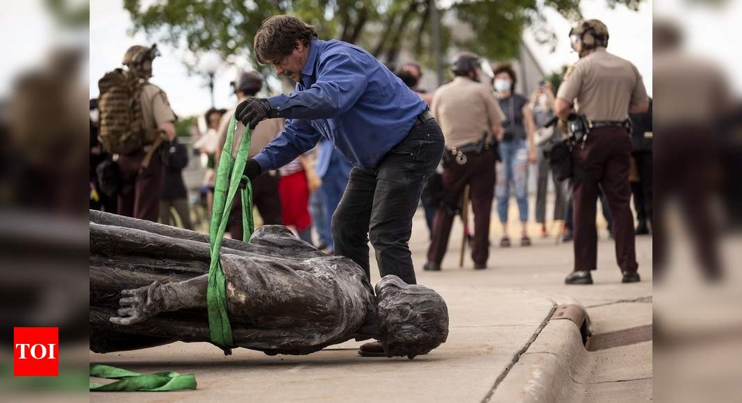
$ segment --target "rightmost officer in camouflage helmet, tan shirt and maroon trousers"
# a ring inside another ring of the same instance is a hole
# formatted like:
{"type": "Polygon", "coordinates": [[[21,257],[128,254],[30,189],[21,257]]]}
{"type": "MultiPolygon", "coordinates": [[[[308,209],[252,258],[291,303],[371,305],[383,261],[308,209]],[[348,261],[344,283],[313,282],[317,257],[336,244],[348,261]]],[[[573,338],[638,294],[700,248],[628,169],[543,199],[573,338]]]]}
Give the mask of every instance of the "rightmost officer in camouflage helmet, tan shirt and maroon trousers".
{"type": "Polygon", "coordinates": [[[588,134],[573,148],[574,272],[566,284],[592,284],[597,265],[595,209],[602,186],[613,217],[616,259],[623,283],[640,281],[634,252],[634,217],[628,171],[631,157],[628,114],[641,113],[649,99],[637,68],[605,50],[608,28],[591,19],[570,31],[580,60],[559,87],[555,111],[562,119],[583,115],[588,134]]]}

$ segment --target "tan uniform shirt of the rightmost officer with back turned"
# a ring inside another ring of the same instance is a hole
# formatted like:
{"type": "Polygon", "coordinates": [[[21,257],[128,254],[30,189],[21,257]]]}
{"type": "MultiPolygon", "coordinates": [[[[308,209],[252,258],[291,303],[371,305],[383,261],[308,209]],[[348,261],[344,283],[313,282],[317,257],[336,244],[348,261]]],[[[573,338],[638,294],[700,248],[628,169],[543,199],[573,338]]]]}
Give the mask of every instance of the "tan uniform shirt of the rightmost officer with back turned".
{"type": "Polygon", "coordinates": [[[574,103],[590,120],[628,119],[630,105],[646,101],[642,76],[631,62],[598,47],[580,59],[559,86],[557,98],[574,103]]]}

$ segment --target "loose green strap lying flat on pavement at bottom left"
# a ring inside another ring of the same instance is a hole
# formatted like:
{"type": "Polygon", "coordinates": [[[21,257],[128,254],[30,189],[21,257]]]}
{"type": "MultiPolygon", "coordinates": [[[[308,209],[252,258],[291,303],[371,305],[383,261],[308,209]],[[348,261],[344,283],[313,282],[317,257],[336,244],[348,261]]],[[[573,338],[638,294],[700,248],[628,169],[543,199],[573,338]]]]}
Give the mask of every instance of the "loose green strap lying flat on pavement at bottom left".
{"type": "Polygon", "coordinates": [[[102,364],[91,364],[90,376],[105,379],[119,379],[110,384],[90,382],[91,392],[167,392],[170,390],[196,389],[196,377],[192,374],[180,375],[174,372],[142,375],[122,368],[102,364]]]}

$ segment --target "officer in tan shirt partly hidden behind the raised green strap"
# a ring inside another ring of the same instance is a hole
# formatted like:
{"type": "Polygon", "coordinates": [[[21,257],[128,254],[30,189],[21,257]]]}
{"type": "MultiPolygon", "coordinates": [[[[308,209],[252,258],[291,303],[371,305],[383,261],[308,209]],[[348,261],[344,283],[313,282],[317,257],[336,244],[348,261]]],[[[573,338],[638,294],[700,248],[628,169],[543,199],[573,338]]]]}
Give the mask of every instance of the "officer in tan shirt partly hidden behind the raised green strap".
{"type": "MultiPolygon", "coordinates": [[[[257,95],[263,88],[263,77],[253,71],[244,71],[234,80],[234,94],[237,96],[237,103],[243,102],[249,97],[257,95]]],[[[224,142],[226,140],[229,121],[234,115],[234,109],[230,109],[222,116],[219,127],[219,142],[217,145],[217,166],[224,142]]],[[[249,158],[255,157],[271,140],[273,140],[280,131],[283,130],[283,119],[266,119],[258,123],[250,131],[250,151],[249,158]]],[[[237,121],[234,128],[234,144],[232,148],[232,157],[237,156],[237,144],[240,144],[245,125],[237,121]]],[[[281,203],[278,194],[278,171],[269,171],[265,175],[260,175],[252,180],[252,201],[260,212],[260,218],[263,224],[283,224],[281,217],[281,203]]],[[[232,211],[229,214],[228,230],[232,238],[241,240],[243,237],[242,226],[242,202],[239,197],[234,198],[232,211]]]]}

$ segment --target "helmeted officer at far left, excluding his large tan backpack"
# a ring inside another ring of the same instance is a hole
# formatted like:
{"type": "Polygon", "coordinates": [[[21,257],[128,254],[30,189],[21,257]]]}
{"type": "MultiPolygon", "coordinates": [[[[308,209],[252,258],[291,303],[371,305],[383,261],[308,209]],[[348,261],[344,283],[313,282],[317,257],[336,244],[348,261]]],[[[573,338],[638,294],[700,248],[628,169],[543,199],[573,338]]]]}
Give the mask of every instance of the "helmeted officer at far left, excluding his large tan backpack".
{"type": "MultiPolygon", "coordinates": [[[[142,104],[142,124],[145,131],[160,131],[168,141],[172,141],[175,138],[175,114],[170,108],[165,91],[148,82],[152,76],[152,62],[159,55],[157,47],[135,45],[126,50],[122,64],[143,82],[139,102],[142,104]]],[[[147,144],[134,154],[119,155],[117,163],[123,190],[119,194],[118,213],[156,222],[160,215],[165,166],[159,151],[154,151],[148,166],[142,164],[152,147],[154,145],[147,144]]]]}

